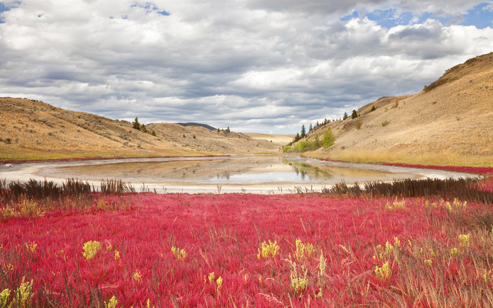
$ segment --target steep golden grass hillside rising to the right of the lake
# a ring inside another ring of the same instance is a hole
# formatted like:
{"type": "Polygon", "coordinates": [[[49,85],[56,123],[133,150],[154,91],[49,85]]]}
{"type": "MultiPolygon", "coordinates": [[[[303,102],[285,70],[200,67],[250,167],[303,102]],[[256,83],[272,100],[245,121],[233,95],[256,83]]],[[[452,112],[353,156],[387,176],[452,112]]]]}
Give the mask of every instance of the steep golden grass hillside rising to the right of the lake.
{"type": "Polygon", "coordinates": [[[328,150],[321,148],[307,155],[359,162],[491,167],[493,53],[448,69],[420,93],[383,97],[357,112],[361,116],[356,119],[350,116],[310,132],[308,139],[314,139],[330,127],[337,139],[328,150]],[[383,126],[386,121],[388,125],[383,126]]]}

